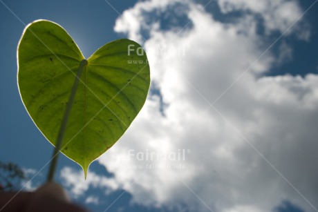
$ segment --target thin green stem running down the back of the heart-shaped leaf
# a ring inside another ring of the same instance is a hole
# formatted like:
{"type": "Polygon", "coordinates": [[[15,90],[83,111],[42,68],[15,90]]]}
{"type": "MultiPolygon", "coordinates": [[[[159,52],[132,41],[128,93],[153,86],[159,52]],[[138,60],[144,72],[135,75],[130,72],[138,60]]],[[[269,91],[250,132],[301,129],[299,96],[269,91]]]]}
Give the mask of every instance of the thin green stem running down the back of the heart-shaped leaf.
{"type": "Polygon", "coordinates": [[[69,115],[71,113],[71,108],[72,108],[72,105],[73,105],[73,100],[74,100],[74,97],[75,97],[75,93],[76,93],[76,90],[77,90],[79,79],[80,79],[80,77],[82,75],[82,70],[84,69],[84,67],[87,64],[88,64],[88,62],[87,62],[86,59],[83,59],[81,61],[81,63],[79,64],[79,68],[78,68],[77,75],[76,75],[76,78],[75,78],[75,81],[74,81],[74,84],[73,84],[72,92],[71,92],[70,97],[68,98],[68,104],[66,105],[66,110],[65,110],[65,113],[64,113],[64,117],[62,119],[62,124],[61,124],[61,127],[59,128],[59,135],[57,136],[57,142],[55,144],[55,148],[54,148],[54,151],[53,151],[52,161],[50,162],[50,170],[48,171],[47,182],[50,182],[50,181],[53,180],[54,173],[55,173],[55,168],[56,168],[56,165],[57,165],[57,158],[59,156],[59,151],[61,150],[62,140],[63,140],[64,134],[65,134],[65,131],[66,131],[67,121],[68,121],[68,117],[69,117],[69,115]]]}

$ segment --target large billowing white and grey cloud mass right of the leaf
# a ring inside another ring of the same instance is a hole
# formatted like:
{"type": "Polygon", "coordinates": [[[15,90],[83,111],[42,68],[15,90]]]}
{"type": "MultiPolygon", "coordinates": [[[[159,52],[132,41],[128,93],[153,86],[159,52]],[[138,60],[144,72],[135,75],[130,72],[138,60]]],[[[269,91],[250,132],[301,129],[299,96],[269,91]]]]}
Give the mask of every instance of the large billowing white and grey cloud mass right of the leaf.
{"type": "MultiPolygon", "coordinates": [[[[127,133],[98,162],[138,204],[180,211],[270,211],[288,200],[315,211],[318,76],[263,77],[279,58],[268,52],[257,60],[266,45],[251,18],[225,24],[186,2],[191,29],[179,34],[175,28],[162,30],[157,19],[144,22],[147,12],[158,14],[177,1],[161,2],[138,2],[116,21],[115,30],[137,41],[141,29],[149,30],[144,47],[151,78],[168,105],[165,117],[158,96],[149,97],[127,133]],[[221,115],[209,108],[216,100],[221,115]],[[137,155],[178,155],[183,150],[185,160],[140,160],[137,155]]],[[[223,12],[261,14],[267,33],[283,32],[302,12],[296,1],[219,3],[223,12]]]]}

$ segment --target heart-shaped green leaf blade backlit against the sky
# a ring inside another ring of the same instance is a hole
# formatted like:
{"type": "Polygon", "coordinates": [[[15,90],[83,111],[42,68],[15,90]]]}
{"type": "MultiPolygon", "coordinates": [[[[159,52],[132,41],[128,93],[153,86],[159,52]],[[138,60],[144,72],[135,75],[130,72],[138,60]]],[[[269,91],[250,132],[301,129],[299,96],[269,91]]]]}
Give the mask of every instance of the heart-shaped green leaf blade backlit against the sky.
{"type": "MultiPolygon", "coordinates": [[[[26,26],[18,46],[18,85],[33,122],[56,145],[59,128],[84,59],[57,23],[26,26]]],[[[138,115],[150,84],[147,56],[139,44],[119,39],[87,59],[71,103],[61,152],[88,166],[120,139],[138,115]]]]}

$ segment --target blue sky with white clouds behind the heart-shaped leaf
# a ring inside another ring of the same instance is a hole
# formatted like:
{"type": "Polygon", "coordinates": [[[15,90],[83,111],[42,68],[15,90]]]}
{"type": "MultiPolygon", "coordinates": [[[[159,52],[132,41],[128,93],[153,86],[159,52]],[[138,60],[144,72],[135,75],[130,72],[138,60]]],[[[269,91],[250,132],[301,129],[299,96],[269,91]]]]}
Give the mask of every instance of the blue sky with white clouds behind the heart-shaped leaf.
{"type": "Polygon", "coordinates": [[[56,180],[92,211],[317,211],[318,3],[288,0],[0,1],[0,160],[42,184],[53,147],[17,88],[26,24],[63,26],[85,57],[127,37],[152,89],[118,144],[56,180]],[[139,155],[185,154],[185,160],[139,155]],[[149,168],[157,165],[156,168],[149,168]],[[179,167],[179,168],[178,168],[179,167]],[[183,167],[183,168],[180,168],[183,167]]]}

